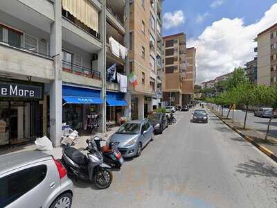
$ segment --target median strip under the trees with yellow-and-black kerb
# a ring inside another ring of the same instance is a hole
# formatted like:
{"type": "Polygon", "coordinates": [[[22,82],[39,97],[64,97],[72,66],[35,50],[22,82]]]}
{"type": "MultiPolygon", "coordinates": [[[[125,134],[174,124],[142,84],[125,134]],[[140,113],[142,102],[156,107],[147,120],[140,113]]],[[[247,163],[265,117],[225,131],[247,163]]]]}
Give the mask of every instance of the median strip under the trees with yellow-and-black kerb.
{"type": "Polygon", "coordinates": [[[221,116],[221,112],[216,112],[210,109],[215,116],[217,116],[223,123],[228,125],[230,128],[238,132],[239,135],[247,139],[254,146],[260,149],[263,153],[274,159],[277,162],[277,138],[268,136],[265,140],[265,134],[253,130],[252,128],[243,129],[242,123],[236,121],[233,122],[232,119],[226,119],[226,116],[221,116]]]}

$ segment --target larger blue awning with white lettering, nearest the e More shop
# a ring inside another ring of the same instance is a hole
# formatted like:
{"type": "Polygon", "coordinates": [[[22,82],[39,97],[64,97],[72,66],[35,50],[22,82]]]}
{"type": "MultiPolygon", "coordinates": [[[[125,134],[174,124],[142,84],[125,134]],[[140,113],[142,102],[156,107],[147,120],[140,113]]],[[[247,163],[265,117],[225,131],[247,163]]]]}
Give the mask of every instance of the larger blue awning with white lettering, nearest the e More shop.
{"type": "Polygon", "coordinates": [[[69,104],[102,104],[100,91],[82,87],[62,86],[62,98],[69,104]]]}

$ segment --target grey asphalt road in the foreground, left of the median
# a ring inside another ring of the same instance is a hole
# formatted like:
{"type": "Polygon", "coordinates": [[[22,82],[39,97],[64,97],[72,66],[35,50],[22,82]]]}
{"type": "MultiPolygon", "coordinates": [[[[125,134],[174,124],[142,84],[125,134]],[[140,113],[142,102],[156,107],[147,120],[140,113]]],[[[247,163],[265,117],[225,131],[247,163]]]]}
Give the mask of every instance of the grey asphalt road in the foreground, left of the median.
{"type": "Polygon", "coordinates": [[[178,123],[114,172],[109,189],[75,183],[73,207],[277,207],[277,165],[227,128],[178,123]]]}

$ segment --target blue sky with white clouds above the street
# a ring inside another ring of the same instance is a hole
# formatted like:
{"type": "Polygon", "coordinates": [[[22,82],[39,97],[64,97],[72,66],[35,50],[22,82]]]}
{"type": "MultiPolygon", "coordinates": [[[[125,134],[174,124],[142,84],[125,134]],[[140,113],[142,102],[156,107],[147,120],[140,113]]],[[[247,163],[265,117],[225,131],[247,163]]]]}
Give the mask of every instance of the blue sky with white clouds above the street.
{"type": "Polygon", "coordinates": [[[197,48],[197,83],[253,60],[253,39],[277,23],[277,0],[164,0],[163,35],[197,48]]]}

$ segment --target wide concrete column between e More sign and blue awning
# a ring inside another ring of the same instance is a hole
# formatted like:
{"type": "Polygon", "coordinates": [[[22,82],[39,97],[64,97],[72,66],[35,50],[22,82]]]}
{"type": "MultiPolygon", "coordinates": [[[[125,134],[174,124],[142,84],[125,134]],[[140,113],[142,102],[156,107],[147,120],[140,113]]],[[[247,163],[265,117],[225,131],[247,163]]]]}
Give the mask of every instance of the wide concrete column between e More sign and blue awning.
{"type": "Polygon", "coordinates": [[[50,55],[53,56],[55,80],[50,83],[50,139],[53,146],[60,146],[62,135],[62,1],[54,1],[55,22],[51,24],[50,55]]]}

